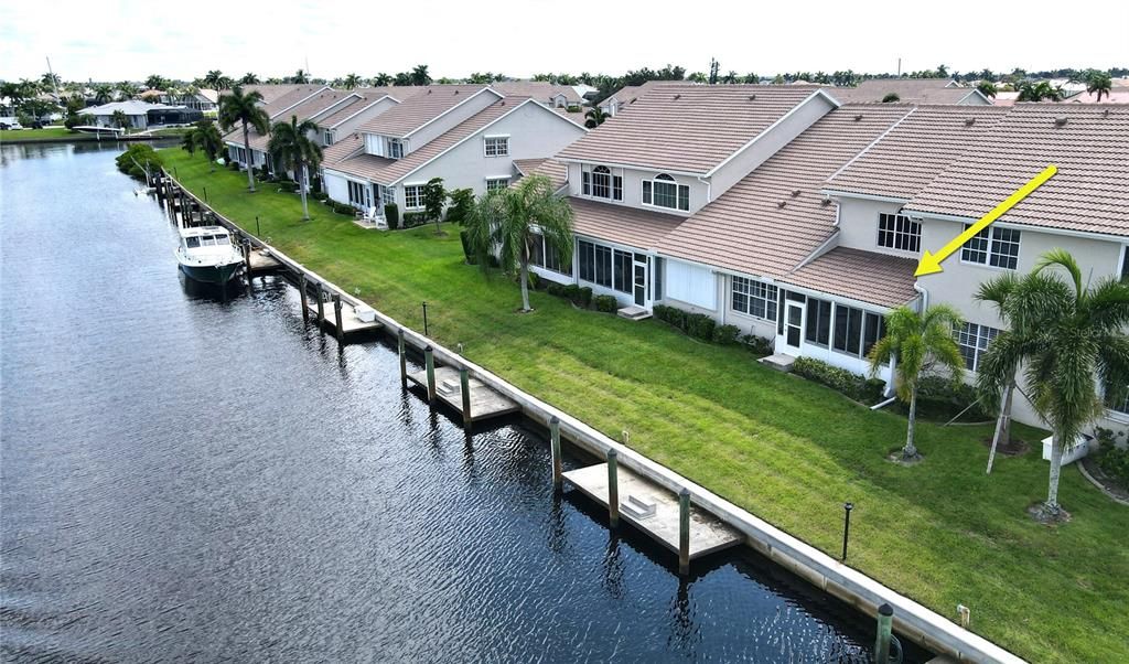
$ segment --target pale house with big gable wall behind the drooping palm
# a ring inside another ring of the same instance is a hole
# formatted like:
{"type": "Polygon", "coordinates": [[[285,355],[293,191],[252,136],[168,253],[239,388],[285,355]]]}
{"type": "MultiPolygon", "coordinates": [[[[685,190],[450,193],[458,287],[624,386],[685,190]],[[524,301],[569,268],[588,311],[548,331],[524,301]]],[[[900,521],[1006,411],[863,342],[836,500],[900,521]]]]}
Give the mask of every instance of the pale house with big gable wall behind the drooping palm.
{"type": "Polygon", "coordinates": [[[475,194],[508,186],[515,161],[549,157],[586,133],[530,97],[489,86],[428,86],[325,149],[325,191],[358,209],[395,203],[422,210],[423,185],[441,177],[449,190],[475,194]]]}

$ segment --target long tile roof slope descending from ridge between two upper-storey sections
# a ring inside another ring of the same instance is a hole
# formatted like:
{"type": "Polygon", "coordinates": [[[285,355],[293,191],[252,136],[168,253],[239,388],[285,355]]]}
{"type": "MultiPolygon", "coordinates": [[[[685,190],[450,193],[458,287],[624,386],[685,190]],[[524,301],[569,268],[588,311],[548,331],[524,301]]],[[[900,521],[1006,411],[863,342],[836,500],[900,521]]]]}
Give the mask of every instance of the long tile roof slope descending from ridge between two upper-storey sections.
{"type": "Polygon", "coordinates": [[[746,274],[786,274],[835,231],[823,182],[908,112],[890,105],[831,111],[663,238],[658,251],[746,274]]]}

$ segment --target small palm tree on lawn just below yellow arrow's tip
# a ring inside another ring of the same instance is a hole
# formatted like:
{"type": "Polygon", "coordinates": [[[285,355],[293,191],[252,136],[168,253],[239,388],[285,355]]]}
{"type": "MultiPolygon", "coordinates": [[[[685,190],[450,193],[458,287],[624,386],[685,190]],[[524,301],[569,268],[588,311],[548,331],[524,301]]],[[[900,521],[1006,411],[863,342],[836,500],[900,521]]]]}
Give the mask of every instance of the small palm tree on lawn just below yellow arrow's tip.
{"type": "Polygon", "coordinates": [[[870,349],[870,375],[882,365],[894,361],[898,397],[909,403],[909,426],[902,461],[921,457],[913,444],[917,426],[917,393],[922,375],[948,373],[954,383],[964,375],[964,358],[953,339],[953,330],[963,324],[960,314],[947,305],[934,305],[918,313],[901,306],[886,315],[886,335],[870,349]],[[896,359],[895,359],[896,358],[896,359]]]}

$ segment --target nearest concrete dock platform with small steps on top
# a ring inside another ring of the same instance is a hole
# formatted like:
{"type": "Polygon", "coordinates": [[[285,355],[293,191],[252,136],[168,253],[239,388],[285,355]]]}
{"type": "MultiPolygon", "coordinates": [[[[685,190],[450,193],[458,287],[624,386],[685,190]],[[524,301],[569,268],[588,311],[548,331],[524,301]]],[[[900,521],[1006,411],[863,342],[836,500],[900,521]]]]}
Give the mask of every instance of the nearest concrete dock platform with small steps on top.
{"type": "MultiPolygon", "coordinates": [[[[646,480],[620,464],[616,469],[620,496],[620,519],[641,530],[659,544],[679,552],[679,497],[646,480]],[[654,514],[634,506],[654,506],[654,514]]],[[[607,507],[607,464],[589,465],[563,473],[563,478],[581,493],[607,507]]],[[[735,528],[711,514],[690,506],[690,559],[735,547],[744,538],[735,528]]]]}

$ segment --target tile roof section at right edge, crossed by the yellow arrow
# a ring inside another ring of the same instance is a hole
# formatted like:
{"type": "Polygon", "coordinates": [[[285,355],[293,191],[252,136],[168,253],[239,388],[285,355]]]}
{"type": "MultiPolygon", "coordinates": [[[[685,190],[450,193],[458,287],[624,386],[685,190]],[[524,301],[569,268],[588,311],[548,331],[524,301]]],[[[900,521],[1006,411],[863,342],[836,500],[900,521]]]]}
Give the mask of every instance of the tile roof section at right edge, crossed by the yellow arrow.
{"type": "Polygon", "coordinates": [[[978,218],[1053,164],[1000,221],[1129,236],[1127,155],[1127,105],[1018,104],[905,209],[978,218]]]}

